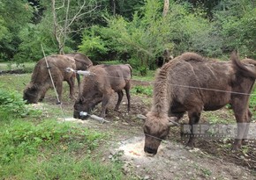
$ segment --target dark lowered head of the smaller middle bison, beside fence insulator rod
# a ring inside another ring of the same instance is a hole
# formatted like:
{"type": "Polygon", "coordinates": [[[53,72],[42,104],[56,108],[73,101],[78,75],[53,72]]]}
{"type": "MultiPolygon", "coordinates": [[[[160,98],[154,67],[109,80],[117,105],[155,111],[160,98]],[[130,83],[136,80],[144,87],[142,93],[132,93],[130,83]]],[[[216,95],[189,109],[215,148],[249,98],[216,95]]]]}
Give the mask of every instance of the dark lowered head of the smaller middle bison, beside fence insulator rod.
{"type": "Polygon", "coordinates": [[[102,102],[102,95],[91,91],[87,94],[87,97],[79,97],[79,99],[74,104],[73,117],[75,119],[87,119],[87,116],[82,116],[81,112],[87,112],[88,114],[92,112],[96,104],[102,102]]]}

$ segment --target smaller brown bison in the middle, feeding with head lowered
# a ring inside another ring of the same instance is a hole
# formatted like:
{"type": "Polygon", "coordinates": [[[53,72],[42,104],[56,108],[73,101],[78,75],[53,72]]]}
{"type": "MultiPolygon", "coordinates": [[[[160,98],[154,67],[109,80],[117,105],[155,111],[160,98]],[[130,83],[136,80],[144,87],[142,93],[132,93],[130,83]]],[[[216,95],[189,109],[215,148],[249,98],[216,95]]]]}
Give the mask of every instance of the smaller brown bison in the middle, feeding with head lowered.
{"type": "Polygon", "coordinates": [[[73,117],[75,119],[86,119],[80,116],[80,112],[90,113],[96,104],[102,102],[101,117],[106,115],[109,99],[114,92],[118,94],[118,110],[124,92],[128,100],[128,112],[130,111],[130,88],[132,78],[132,67],[126,65],[97,65],[90,68],[91,76],[85,76],[80,85],[79,98],[74,104],[73,117]]]}

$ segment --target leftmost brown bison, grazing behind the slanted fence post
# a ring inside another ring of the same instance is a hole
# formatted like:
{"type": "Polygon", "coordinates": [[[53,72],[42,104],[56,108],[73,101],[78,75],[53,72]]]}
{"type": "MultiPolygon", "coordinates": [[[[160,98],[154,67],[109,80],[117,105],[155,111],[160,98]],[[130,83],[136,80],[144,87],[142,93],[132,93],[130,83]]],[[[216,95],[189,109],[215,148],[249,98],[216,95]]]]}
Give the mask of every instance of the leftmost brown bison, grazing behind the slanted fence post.
{"type": "Polygon", "coordinates": [[[56,92],[59,99],[61,100],[62,98],[63,81],[66,81],[69,84],[70,97],[73,96],[76,75],[74,72],[67,72],[66,68],[75,69],[75,61],[64,55],[49,55],[46,59],[49,68],[47,68],[45,58],[38,61],[34,67],[31,82],[24,90],[23,99],[29,104],[38,103],[38,101],[41,101],[44,98],[46,91],[49,90],[49,88],[53,88],[49,71],[56,86],[56,92]]]}

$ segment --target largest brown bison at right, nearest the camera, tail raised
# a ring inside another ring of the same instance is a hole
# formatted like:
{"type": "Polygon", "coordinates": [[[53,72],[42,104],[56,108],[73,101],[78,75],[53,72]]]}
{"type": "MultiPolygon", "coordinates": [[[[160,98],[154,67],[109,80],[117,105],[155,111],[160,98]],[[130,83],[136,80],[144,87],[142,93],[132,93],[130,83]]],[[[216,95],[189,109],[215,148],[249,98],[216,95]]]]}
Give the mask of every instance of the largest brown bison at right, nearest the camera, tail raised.
{"type": "MultiPolygon", "coordinates": [[[[153,105],[144,125],[146,153],[157,153],[173,125],[169,119],[181,119],[188,112],[192,127],[198,124],[202,111],[215,111],[226,104],[231,105],[239,123],[233,149],[240,148],[249,128],[246,123],[252,117],[248,101],[256,78],[256,61],[241,62],[236,54],[230,59],[210,61],[199,54],[185,53],[162,66],[155,76],[153,105]]],[[[189,148],[194,147],[194,140],[191,135],[189,148]]]]}

